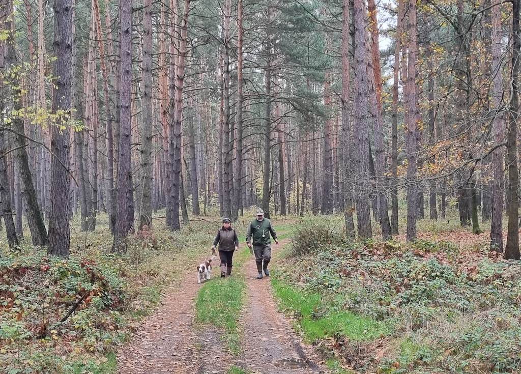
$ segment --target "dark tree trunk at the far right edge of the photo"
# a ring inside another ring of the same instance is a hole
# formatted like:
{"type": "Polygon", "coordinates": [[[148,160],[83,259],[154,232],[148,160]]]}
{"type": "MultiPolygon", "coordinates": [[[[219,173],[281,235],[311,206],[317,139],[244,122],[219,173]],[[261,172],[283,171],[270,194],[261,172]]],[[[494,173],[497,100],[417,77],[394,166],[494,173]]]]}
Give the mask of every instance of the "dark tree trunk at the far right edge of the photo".
{"type": "Polygon", "coordinates": [[[519,118],[519,59],[521,58],[521,30],[519,29],[519,3],[513,0],[512,8],[512,98],[510,121],[506,132],[506,161],[508,165],[507,215],[505,258],[519,259],[519,170],[517,169],[517,123],[519,118]]]}

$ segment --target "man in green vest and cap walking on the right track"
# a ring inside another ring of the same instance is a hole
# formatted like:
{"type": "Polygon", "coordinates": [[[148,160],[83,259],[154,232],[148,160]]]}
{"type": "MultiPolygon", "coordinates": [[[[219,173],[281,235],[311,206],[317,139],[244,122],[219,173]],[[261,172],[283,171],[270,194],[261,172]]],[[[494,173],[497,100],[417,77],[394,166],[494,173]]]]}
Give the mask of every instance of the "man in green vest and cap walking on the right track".
{"type": "Polygon", "coordinates": [[[269,276],[268,264],[271,259],[271,240],[269,235],[273,237],[275,243],[279,244],[277,233],[271,226],[271,221],[264,218],[264,210],[257,209],[256,218],[250,223],[246,232],[246,244],[250,248],[250,252],[255,254],[255,263],[258,271],[257,279],[262,279],[263,270],[269,276]]]}

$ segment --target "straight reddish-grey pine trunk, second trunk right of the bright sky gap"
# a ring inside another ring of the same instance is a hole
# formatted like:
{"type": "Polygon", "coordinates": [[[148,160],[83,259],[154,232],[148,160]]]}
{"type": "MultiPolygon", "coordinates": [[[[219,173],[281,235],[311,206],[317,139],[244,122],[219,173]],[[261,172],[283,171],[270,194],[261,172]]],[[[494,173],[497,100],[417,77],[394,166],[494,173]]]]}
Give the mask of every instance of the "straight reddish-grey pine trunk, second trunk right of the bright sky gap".
{"type": "Polygon", "coordinates": [[[407,11],[407,81],[405,96],[405,143],[407,149],[407,241],[416,240],[418,184],[416,180],[418,152],[418,123],[416,95],[416,2],[409,0],[407,11]]]}

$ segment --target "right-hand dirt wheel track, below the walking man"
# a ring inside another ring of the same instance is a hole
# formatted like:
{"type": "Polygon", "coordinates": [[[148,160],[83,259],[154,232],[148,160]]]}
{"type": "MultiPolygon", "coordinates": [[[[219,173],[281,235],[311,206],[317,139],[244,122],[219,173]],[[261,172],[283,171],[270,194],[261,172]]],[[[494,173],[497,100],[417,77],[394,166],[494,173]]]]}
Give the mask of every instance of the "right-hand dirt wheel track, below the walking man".
{"type": "MultiPolygon", "coordinates": [[[[284,240],[280,245],[289,241],[284,240]]],[[[327,369],[313,348],[302,344],[291,322],[277,310],[269,277],[255,279],[255,259],[244,266],[247,300],[243,316],[243,355],[235,365],[247,372],[262,374],[316,374],[327,369]]]]}

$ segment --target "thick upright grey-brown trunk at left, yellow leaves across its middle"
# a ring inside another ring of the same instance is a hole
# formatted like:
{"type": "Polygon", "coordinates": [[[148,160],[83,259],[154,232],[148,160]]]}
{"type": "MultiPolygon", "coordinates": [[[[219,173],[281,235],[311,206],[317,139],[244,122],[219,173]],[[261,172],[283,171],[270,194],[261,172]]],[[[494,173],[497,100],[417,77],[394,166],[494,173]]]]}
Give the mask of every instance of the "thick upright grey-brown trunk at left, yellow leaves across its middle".
{"type": "Polygon", "coordinates": [[[51,214],[49,216],[49,247],[47,252],[62,257],[69,256],[70,228],[70,178],[69,148],[70,120],[73,96],[72,71],[72,0],[54,2],[54,82],[53,113],[63,112],[53,126],[51,148],[51,214]]]}

